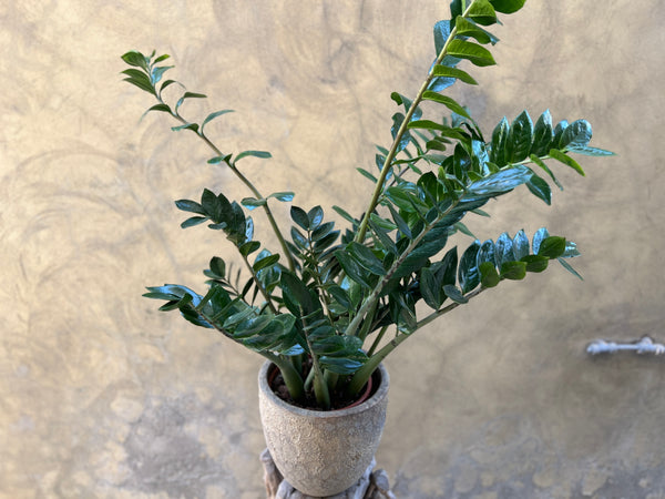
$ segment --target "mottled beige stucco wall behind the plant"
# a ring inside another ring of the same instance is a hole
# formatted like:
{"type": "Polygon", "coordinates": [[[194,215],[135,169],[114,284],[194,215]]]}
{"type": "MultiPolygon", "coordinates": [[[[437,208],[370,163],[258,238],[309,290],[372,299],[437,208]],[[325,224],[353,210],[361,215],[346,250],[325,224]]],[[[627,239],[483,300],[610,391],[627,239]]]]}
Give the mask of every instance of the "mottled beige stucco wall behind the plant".
{"type": "MultiPolygon", "coordinates": [[[[273,152],[246,162],[262,190],[359,212],[370,185],[354,167],[387,145],[390,91],[416,92],[447,3],[0,4],[1,497],[262,495],[260,358],[139,298],[201,288],[228,251],[183,233],[173,200],[246,193],[167,116],[137,122],[152,102],[120,82],[119,55],[171,53],[209,96],[192,116],[235,109],[211,132],[273,152]]],[[[471,225],[548,225],[579,243],[585,281],[505,284],[389,359],[377,459],[400,497],[665,497],[663,361],[584,354],[597,337],[665,339],[664,22],[658,2],[531,0],[497,30],[480,88],[453,91],[485,128],[524,108],[586,118],[618,156],[585,160],[586,179],[560,169],[552,208],[524,190],[471,225]]]]}

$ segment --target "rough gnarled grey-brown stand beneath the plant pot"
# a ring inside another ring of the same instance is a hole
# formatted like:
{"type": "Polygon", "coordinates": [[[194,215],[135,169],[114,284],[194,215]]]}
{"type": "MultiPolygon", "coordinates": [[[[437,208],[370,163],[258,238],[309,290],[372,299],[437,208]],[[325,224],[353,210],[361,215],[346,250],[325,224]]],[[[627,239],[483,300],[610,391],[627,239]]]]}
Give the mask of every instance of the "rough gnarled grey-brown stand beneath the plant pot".
{"type": "MultiPolygon", "coordinates": [[[[260,461],[264,466],[264,481],[266,485],[267,499],[320,499],[313,496],[306,496],[303,492],[294,489],[294,487],[283,477],[268,449],[260,454],[260,461]]],[[[330,496],[327,499],[395,499],[395,495],[390,491],[388,482],[388,473],[378,469],[374,470],[376,460],[365,470],[365,475],[358,482],[336,496],[330,496]]]]}

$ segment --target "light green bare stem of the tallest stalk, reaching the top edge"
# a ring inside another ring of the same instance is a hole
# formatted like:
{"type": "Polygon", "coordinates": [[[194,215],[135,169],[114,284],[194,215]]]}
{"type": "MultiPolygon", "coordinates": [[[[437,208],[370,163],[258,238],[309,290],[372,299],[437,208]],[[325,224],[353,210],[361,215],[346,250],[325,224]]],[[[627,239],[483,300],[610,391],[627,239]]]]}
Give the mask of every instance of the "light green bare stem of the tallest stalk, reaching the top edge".
{"type": "MultiPolygon", "coordinates": [[[[473,2],[471,2],[469,4],[469,7],[467,8],[467,10],[464,10],[464,13],[462,13],[463,18],[466,18],[469,14],[469,10],[471,9],[472,4],[473,4],[473,2]]],[[[402,136],[405,135],[405,133],[407,132],[407,129],[409,128],[409,123],[411,122],[411,119],[413,118],[413,113],[416,112],[416,109],[418,109],[418,105],[422,101],[422,95],[424,94],[424,92],[429,88],[430,83],[434,79],[434,67],[437,67],[438,64],[440,64],[443,61],[443,58],[448,54],[448,45],[454,39],[454,37],[457,37],[457,27],[450,31],[450,34],[448,35],[448,39],[446,40],[446,43],[443,44],[441,52],[437,57],[436,62],[432,64],[432,68],[430,69],[427,78],[424,79],[424,82],[420,86],[420,90],[418,91],[416,99],[413,99],[413,101],[411,102],[411,106],[407,111],[407,115],[406,115],[405,120],[402,121],[402,124],[399,126],[399,130],[397,131],[397,134],[395,135],[392,145],[390,146],[390,150],[388,151],[388,155],[386,156],[386,161],[383,162],[383,167],[381,169],[381,174],[379,176],[379,180],[377,181],[377,186],[375,187],[374,194],[371,196],[371,201],[369,202],[369,205],[368,205],[367,210],[365,211],[365,215],[362,216],[362,221],[360,222],[360,226],[358,227],[358,233],[356,234],[356,237],[355,237],[355,241],[357,243],[362,243],[365,241],[365,234],[367,233],[369,217],[372,214],[372,212],[375,211],[375,208],[377,207],[377,204],[379,203],[379,197],[383,191],[383,182],[386,182],[388,172],[392,167],[392,162],[395,161],[395,156],[398,153],[397,149],[399,146],[399,143],[401,142],[402,136]]]]}

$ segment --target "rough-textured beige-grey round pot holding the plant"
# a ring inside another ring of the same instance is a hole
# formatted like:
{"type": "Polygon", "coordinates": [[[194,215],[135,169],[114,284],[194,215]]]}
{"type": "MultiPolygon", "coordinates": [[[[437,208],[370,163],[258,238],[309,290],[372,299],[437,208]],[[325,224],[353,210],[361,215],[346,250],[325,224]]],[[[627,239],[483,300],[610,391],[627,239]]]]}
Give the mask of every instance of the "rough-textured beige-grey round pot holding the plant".
{"type": "Polygon", "coordinates": [[[356,483],[379,447],[388,406],[388,371],[362,404],[340,410],[309,410],[277,397],[268,385],[270,363],[258,375],[264,436],[284,478],[308,496],[339,493],[356,483]]]}

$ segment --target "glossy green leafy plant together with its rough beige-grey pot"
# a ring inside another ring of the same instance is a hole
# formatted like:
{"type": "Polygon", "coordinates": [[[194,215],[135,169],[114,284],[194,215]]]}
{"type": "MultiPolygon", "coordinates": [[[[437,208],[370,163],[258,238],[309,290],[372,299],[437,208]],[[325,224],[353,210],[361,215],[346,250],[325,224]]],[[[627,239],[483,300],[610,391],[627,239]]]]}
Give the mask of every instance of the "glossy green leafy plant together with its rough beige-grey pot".
{"type": "Polygon", "coordinates": [[[204,272],[206,293],[167,284],[149,287],[144,296],[164,301],[161,310],[180,310],[191,323],[266,358],[259,393],[268,448],[285,477],[305,493],[337,493],[371,460],[386,414],[388,375],[381,361],[402,342],[502,281],[543,272],[551,261],[579,276],[566,262],[579,255],[575,244],[545,228],[531,241],[519,231],[473,241],[462,252],[447,248],[452,234],[471,234],[462,222],[466,215],[487,215],[482,207],[490,200],[521,185],[550,204],[550,182],[562,189],[550,160],[583,175],[571,153],[612,154],[589,145],[587,121],[554,124],[549,111],[535,124],[526,111],[512,123],[503,118],[485,135],[464,106],[442,93],[458,80],[477,84],[464,64],[495,63],[489,48],[498,39],[488,27],[498,22],[497,13],[513,13],[524,1],[451,2],[451,20],[434,26],[436,60],[417,94],[391,94],[399,108],[391,145],[378,146],[375,172],[358,169],[374,183],[366,211],[356,216],[332,206],[347,223],[344,233],[321,206],[297,205],[290,206],[285,233],[285,222],[275,218],[270,206],[291,202],[294,193],[260,193],[243,171],[247,157],[270,154],[223,153],[206,133],[212,120],[231,110],[191,121],[183,103],[205,95],[184,91],[167,102],[165,95],[182,86],[163,78],[173,68],[160,65],[168,55],[131,51],[122,57],[131,65],[123,71],[125,80],[157,100],[149,111],[180,122],[174,131],[193,132],[213,150],[208,163],[229,169],[248,190],[239,202],[207,189],[200,201],[175,202],[190,214],[181,226],[207,224],[219,231],[244,271],[231,273],[228,258],[213,256],[204,272]],[[437,104],[448,115],[424,119],[423,110],[431,114],[437,104]],[[278,251],[255,240],[255,208],[264,212],[278,251]],[[342,450],[347,454],[334,456],[342,450]]]}

